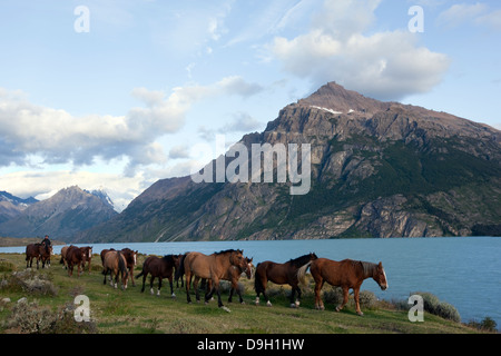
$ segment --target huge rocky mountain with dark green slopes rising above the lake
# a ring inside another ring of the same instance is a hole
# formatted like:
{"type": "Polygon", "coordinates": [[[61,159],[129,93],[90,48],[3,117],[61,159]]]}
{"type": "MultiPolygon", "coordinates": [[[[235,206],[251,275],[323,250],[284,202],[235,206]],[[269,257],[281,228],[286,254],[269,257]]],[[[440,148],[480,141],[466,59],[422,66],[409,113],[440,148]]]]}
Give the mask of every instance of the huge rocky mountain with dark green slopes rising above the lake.
{"type": "MultiPolygon", "coordinates": [[[[289,181],[163,179],[77,240],[501,234],[501,132],[487,125],[330,82],[239,144],[248,149],[238,156],[244,161],[250,161],[253,144],[310,144],[310,191],[291,195],[289,181]]],[[[206,168],[228,168],[237,160],[228,156],[206,168]]]]}

